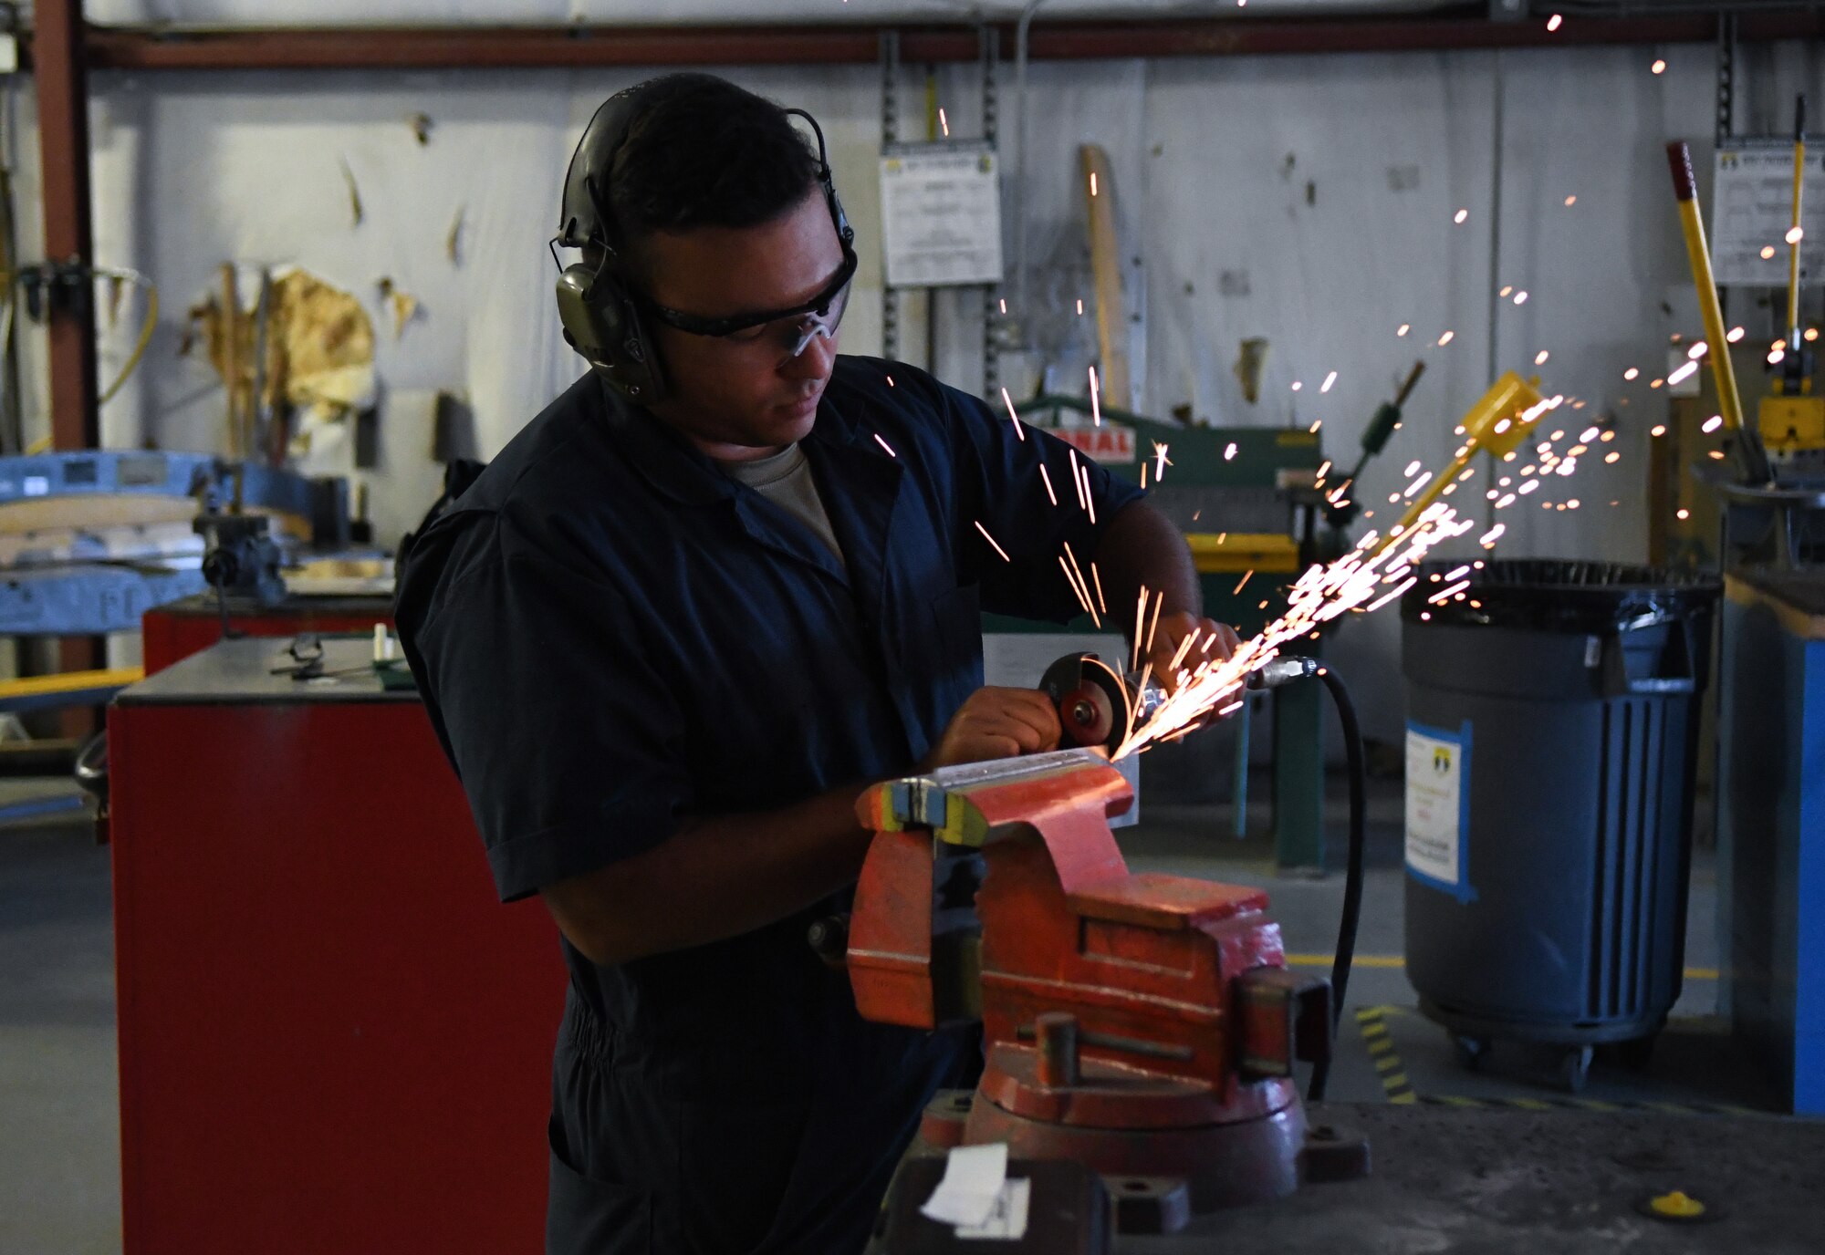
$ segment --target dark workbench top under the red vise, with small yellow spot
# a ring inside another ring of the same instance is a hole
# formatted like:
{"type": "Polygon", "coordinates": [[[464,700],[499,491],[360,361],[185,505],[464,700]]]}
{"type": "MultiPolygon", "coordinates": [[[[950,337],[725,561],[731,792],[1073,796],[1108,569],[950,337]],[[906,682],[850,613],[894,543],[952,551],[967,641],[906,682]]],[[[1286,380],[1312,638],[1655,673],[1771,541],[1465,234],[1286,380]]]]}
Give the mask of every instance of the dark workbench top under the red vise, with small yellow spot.
{"type": "MultiPolygon", "coordinates": [[[[1194,1217],[1173,1235],[1117,1235],[1110,1250],[1816,1255],[1825,1248],[1825,1122],[1818,1120],[1319,1104],[1310,1122],[1365,1135],[1369,1177],[1194,1217]],[[1674,1189],[1708,1204],[1710,1219],[1657,1220],[1637,1209],[1674,1189]]],[[[942,1151],[912,1151],[922,1153],[942,1151]]]]}

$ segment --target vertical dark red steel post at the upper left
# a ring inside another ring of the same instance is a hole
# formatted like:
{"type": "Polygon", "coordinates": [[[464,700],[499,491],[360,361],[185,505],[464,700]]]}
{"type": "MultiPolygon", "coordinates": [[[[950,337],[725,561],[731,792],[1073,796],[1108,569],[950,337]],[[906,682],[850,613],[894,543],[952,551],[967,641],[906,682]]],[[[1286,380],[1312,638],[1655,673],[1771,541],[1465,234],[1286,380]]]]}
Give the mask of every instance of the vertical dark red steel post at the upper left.
{"type": "MultiPolygon", "coordinates": [[[[33,13],[33,77],[44,162],[44,252],[53,263],[93,263],[89,217],[89,86],[82,0],[38,0],[33,13]]],[[[84,285],[82,294],[89,288],[84,285]]],[[[95,389],[95,303],[49,303],[51,443],[100,445],[95,389]]]]}

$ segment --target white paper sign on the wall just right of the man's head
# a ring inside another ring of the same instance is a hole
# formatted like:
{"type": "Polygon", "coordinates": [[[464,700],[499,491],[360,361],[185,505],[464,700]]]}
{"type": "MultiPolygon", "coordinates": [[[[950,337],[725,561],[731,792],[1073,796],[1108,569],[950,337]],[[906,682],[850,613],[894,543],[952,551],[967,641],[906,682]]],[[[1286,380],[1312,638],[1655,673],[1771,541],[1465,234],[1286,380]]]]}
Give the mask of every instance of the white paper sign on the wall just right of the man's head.
{"type": "Polygon", "coordinates": [[[1002,281],[1002,179],[987,144],[881,157],[881,244],[894,288],[1002,281]]]}

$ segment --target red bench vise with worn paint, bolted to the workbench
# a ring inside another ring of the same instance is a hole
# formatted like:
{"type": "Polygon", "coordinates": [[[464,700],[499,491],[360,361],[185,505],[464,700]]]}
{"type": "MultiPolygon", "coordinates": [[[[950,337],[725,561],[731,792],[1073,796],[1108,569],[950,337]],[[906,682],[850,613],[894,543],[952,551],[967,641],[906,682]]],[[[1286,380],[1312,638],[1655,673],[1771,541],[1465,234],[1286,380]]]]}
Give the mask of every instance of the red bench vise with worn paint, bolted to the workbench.
{"type": "Polygon", "coordinates": [[[874,830],[849,921],[858,1009],[984,1027],[967,1116],[958,1104],[945,1122],[934,1104],[922,1133],[1106,1178],[1179,1178],[1192,1211],[1350,1175],[1307,1155],[1292,1080],[1330,1049],[1329,981],[1285,967],[1263,892],[1132,874],[1108,826],[1132,801],[1088,748],[889,781],[858,801],[874,830]],[[971,854],[973,903],[954,874],[971,854]]]}

